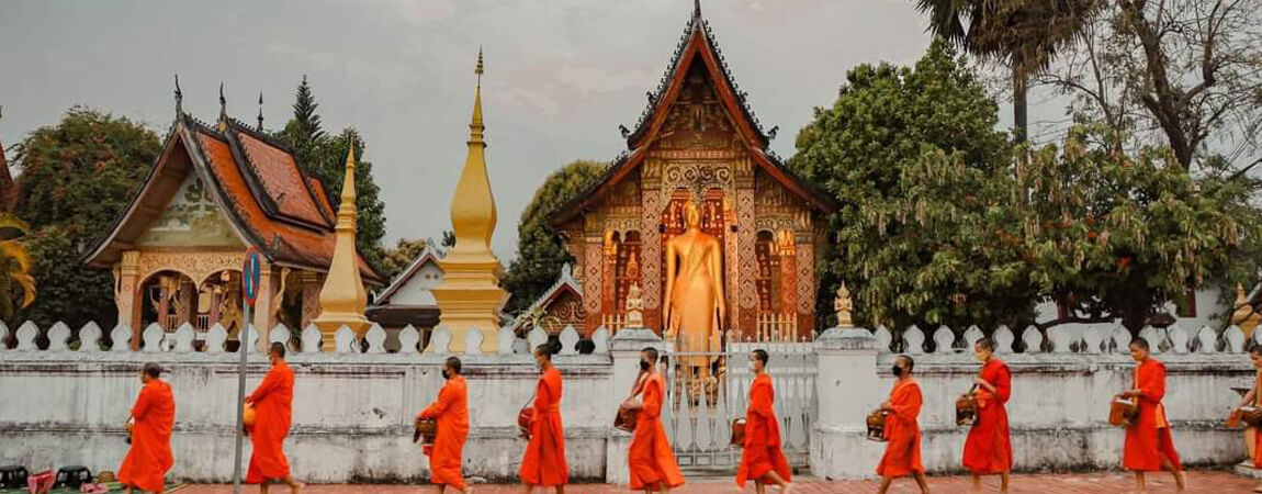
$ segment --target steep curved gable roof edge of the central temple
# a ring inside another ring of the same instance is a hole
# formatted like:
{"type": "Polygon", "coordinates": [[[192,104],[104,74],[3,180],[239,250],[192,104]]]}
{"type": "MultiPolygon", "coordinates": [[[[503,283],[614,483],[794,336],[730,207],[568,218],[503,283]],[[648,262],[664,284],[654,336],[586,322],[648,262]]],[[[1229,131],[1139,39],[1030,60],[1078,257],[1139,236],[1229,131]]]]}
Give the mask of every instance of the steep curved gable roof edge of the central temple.
{"type": "Polygon", "coordinates": [[[658,138],[666,121],[670,106],[683,91],[688,72],[694,63],[700,63],[714,82],[714,92],[728,114],[732,115],[737,133],[748,147],[753,162],[817,210],[835,210],[837,203],[829,195],[790,172],[780,157],[769,148],[771,139],[776,136],[777,128],[764,130],[753,110],[750,109],[748,95],[732,77],[723,51],[718,48],[714,33],[709,28],[709,21],[702,16],[700,0],[695,0],[693,15],[684,27],[679,44],[658,82],[656,91],[649,93],[649,104],[640,114],[635,129],[622,128],[627,149],[618,154],[604,174],[584,193],[557,208],[549,216],[553,225],[560,225],[583,215],[587,208],[608,193],[613,184],[628,176],[644,160],[647,148],[658,138]]]}

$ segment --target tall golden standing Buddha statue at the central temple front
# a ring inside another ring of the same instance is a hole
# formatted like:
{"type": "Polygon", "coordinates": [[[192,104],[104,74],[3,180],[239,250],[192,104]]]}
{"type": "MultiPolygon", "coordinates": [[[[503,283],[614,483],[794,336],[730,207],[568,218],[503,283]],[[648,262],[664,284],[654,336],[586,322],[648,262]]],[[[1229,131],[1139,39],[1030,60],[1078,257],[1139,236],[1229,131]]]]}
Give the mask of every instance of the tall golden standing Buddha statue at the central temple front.
{"type": "MultiPolygon", "coordinates": [[[[723,250],[718,239],[700,227],[697,205],[684,205],[687,230],[666,241],[665,336],[681,352],[718,351],[727,304],[723,297],[723,250]]],[[[679,359],[698,378],[709,375],[709,359],[679,359]]]]}

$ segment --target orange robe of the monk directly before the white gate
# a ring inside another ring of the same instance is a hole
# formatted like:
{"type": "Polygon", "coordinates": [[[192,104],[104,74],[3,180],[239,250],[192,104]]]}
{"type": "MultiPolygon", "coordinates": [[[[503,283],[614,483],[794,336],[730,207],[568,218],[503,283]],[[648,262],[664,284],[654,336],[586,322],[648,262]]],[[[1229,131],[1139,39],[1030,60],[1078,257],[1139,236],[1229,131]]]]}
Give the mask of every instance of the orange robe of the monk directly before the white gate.
{"type": "Polygon", "coordinates": [[[789,460],[780,450],[780,419],[775,411],[776,392],[771,377],[760,374],[750,385],[750,406],[745,412],[745,450],[741,467],[736,471],[736,485],[745,489],[747,479],[762,479],[775,471],[789,481],[789,460]]]}

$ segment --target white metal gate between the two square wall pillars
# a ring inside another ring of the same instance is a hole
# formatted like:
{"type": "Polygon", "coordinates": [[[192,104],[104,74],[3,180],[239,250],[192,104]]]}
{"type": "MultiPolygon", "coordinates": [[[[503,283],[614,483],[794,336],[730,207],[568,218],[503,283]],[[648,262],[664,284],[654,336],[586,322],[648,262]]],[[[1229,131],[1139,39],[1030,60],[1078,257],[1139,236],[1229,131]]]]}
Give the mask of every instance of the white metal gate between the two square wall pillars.
{"type": "Polygon", "coordinates": [[[755,349],[769,354],[785,456],[795,473],[809,466],[810,427],[818,411],[811,344],[732,341],[717,351],[675,351],[668,342],[666,349],[663,425],[681,469],[727,475],[740,466],[741,449],[731,445],[732,421],[746,413],[753,379],[746,361],[755,349]],[[692,370],[697,361],[712,370],[709,375],[698,378],[692,370]]]}

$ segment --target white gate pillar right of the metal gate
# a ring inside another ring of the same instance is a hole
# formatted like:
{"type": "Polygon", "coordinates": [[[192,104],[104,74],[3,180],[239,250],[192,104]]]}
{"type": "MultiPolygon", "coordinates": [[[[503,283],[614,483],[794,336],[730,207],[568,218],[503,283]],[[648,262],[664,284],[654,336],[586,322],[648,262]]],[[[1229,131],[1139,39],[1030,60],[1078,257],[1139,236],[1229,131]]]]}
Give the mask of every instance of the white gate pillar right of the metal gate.
{"type": "Polygon", "coordinates": [[[834,327],[815,339],[819,414],[810,431],[810,473],[823,479],[871,478],[883,445],[867,440],[868,412],[886,395],[876,373],[876,337],[834,327]]]}

